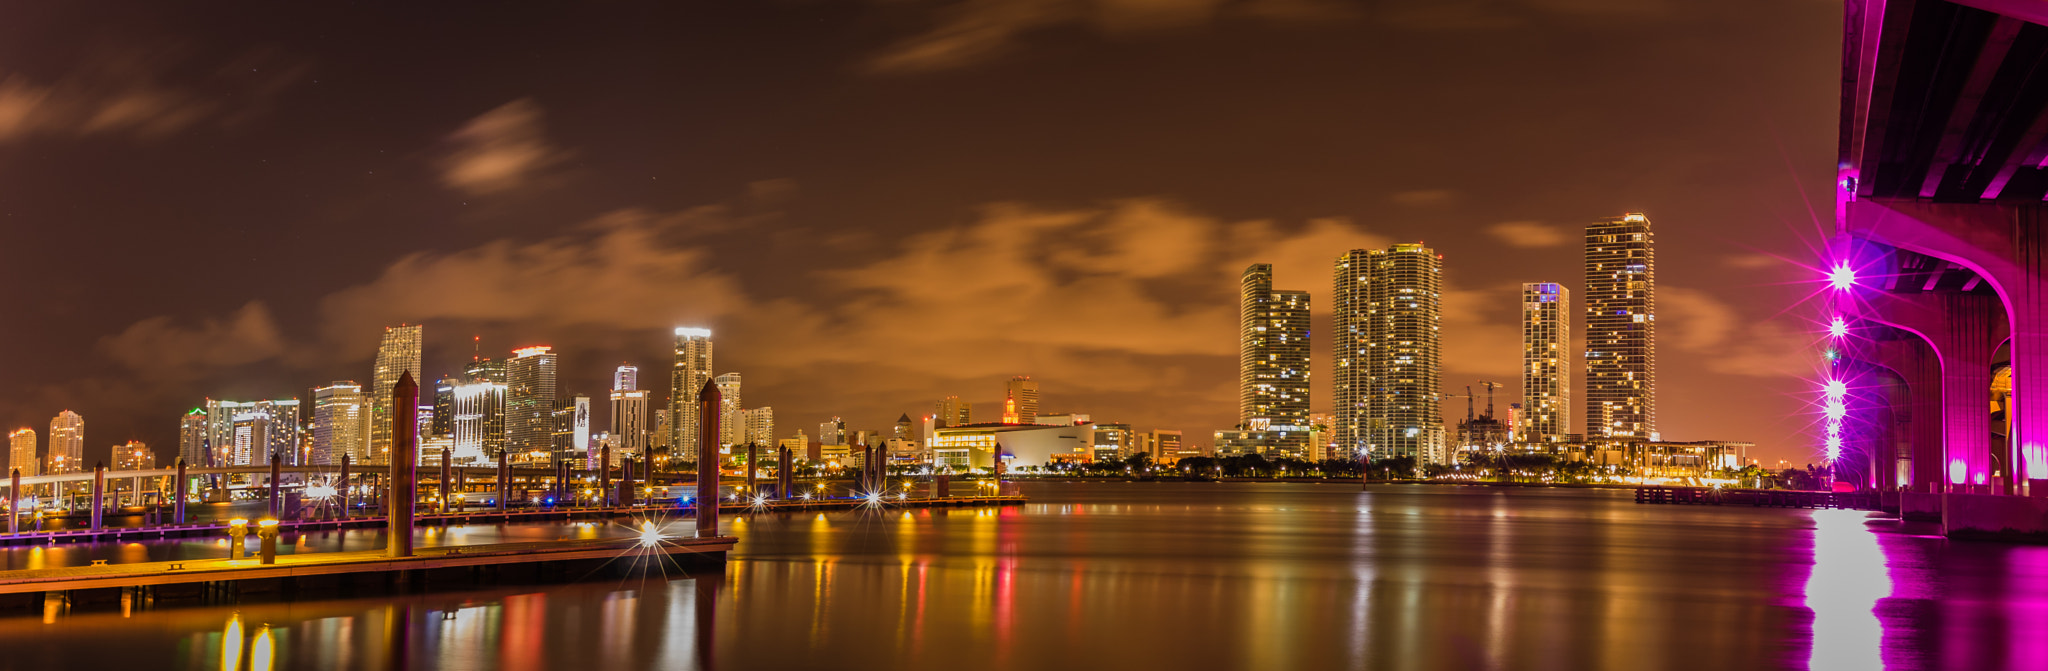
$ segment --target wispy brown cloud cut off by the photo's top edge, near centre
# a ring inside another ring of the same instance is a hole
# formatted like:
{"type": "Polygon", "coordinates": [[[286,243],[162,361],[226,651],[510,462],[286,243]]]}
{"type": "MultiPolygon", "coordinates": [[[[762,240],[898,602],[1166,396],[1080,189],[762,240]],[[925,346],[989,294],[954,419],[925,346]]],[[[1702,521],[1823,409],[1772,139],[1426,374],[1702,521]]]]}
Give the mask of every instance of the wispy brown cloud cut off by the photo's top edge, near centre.
{"type": "Polygon", "coordinates": [[[1339,0],[961,0],[932,12],[930,29],[868,59],[874,74],[975,65],[1018,47],[1024,35],[1079,25],[1102,35],[1190,29],[1221,18],[1315,23],[1356,16],[1339,0]]]}

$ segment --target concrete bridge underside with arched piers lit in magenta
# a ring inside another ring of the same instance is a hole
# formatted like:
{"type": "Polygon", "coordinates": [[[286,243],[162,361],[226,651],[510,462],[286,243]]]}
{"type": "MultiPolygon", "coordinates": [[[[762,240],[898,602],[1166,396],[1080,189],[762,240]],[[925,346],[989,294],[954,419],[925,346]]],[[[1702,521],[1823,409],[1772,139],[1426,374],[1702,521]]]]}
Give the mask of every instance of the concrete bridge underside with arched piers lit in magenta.
{"type": "Polygon", "coordinates": [[[2048,532],[2048,2],[1847,0],[1837,176],[1843,460],[2048,532]]]}

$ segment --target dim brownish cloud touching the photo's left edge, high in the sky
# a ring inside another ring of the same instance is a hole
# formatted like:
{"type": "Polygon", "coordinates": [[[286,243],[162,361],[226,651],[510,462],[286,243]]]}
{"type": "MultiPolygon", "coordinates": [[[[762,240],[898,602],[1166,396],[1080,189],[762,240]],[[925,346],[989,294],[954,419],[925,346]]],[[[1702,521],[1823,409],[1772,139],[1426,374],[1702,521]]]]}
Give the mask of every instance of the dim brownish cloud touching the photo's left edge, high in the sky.
{"type": "Polygon", "coordinates": [[[37,135],[162,139],[201,123],[225,127],[268,108],[305,74],[303,65],[248,53],[209,68],[236,76],[174,78],[170,70],[182,61],[178,49],[160,49],[100,55],[53,82],[0,72],[0,141],[37,135]]]}

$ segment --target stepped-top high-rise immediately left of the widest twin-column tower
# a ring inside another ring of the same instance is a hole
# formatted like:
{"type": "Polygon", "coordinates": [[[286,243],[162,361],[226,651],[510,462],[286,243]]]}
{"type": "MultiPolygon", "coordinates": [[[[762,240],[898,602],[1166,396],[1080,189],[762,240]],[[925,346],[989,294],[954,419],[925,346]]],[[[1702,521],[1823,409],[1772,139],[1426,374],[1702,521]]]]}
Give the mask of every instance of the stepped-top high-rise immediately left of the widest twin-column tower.
{"type": "Polygon", "coordinates": [[[1239,278],[1233,452],[1309,454],[1309,293],[1276,290],[1274,266],[1239,278]]]}

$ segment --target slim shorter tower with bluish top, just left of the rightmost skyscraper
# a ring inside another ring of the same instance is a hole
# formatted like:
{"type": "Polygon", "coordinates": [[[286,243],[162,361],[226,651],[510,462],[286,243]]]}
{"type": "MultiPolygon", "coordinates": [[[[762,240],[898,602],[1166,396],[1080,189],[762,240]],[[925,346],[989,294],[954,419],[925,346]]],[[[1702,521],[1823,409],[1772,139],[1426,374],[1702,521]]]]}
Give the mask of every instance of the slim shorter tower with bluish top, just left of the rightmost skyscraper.
{"type": "Polygon", "coordinates": [[[1509,430],[1524,442],[1571,434],[1571,290],[1554,282],[1522,284],[1522,405],[1509,430]]]}

